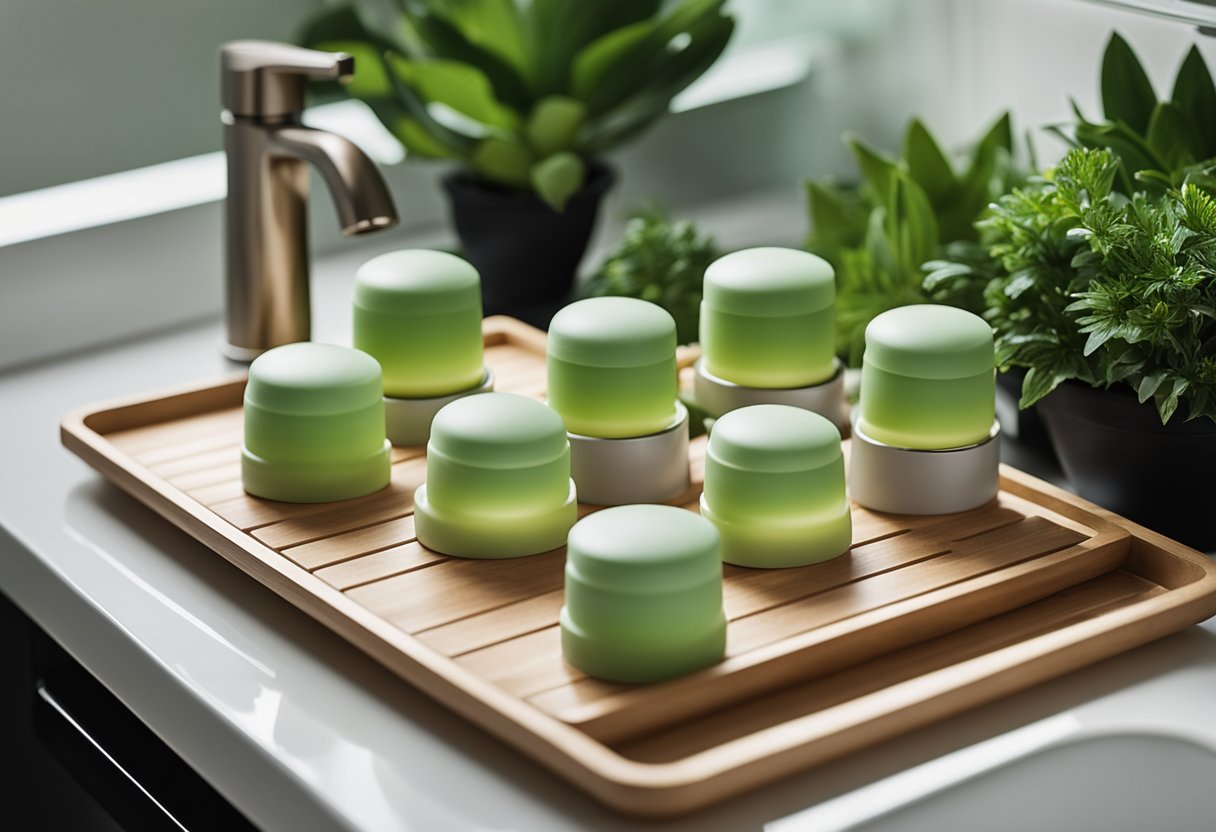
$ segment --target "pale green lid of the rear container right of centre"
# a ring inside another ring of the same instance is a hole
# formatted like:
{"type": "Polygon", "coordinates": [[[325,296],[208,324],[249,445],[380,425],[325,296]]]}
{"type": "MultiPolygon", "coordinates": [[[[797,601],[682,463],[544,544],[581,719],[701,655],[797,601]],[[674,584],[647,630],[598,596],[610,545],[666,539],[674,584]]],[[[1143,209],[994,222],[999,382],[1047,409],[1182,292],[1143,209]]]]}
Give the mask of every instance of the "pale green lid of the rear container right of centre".
{"type": "Polygon", "coordinates": [[[835,272],[795,248],[748,248],[705,269],[705,305],[751,317],[805,315],[835,303],[835,272]]]}

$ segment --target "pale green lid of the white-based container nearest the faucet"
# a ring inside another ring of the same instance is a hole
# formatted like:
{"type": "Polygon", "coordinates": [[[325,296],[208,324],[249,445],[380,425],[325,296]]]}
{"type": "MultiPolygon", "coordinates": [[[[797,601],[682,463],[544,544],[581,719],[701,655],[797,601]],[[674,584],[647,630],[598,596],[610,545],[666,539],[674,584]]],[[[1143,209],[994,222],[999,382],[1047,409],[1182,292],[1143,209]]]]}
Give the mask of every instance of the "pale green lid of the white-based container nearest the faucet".
{"type": "Polygon", "coordinates": [[[407,249],[367,260],[355,272],[355,305],[418,317],[482,303],[477,269],[446,252],[407,249]]]}

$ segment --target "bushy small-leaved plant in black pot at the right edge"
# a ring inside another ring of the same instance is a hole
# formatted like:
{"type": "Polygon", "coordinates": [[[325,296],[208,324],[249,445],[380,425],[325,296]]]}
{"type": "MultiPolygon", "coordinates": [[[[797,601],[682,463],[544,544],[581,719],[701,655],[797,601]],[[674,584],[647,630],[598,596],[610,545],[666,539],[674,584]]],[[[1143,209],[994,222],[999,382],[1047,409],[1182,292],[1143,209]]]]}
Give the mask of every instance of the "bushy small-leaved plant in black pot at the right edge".
{"type": "Polygon", "coordinates": [[[1183,181],[1128,198],[1125,163],[1070,151],[980,223],[995,276],[953,264],[929,280],[981,283],[997,360],[1026,369],[1021,406],[1042,400],[1082,495],[1209,546],[1216,196],[1183,181]]]}

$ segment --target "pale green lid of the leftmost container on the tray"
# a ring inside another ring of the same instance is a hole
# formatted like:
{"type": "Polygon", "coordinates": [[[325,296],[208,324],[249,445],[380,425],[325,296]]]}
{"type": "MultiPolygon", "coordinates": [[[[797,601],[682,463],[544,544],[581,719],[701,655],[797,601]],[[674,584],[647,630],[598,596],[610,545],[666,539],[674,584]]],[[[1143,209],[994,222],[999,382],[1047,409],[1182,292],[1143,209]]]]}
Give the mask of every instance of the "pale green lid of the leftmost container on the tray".
{"type": "Polygon", "coordinates": [[[278,414],[345,414],[382,400],[379,364],[367,353],[302,341],[249,365],[246,404],[278,414]]]}

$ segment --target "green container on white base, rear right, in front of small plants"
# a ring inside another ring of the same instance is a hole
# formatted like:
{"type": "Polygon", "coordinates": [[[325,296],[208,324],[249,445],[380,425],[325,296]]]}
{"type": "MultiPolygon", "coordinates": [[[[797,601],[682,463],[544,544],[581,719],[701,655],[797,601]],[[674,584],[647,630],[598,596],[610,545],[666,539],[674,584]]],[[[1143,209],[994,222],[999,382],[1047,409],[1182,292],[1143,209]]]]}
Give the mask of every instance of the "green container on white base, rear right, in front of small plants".
{"type": "Polygon", "coordinates": [[[810,387],[835,375],[835,274],[793,248],[749,248],[705,270],[705,369],[733,384],[810,387]]]}

